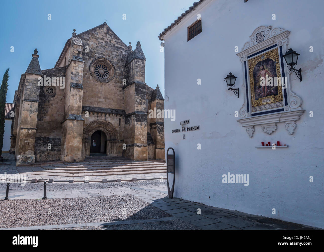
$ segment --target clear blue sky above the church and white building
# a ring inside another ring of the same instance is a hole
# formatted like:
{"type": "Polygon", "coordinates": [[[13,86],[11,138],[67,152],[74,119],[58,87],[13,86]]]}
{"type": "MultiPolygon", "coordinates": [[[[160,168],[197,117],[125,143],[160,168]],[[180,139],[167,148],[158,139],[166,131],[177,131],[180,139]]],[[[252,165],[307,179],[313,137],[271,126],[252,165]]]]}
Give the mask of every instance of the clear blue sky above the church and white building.
{"type": "Polygon", "coordinates": [[[194,0],[5,1],[0,16],[0,76],[9,70],[7,102],[13,102],[20,76],[37,48],[41,69],[53,68],[73,29],[108,26],[128,45],[140,41],[146,57],[146,83],[164,94],[164,53],[157,36],[189,9],[194,0]],[[48,20],[51,14],[52,20],[48,20]],[[126,20],[122,15],[126,14],[126,20]],[[14,46],[14,52],[10,47],[14,46]]]}

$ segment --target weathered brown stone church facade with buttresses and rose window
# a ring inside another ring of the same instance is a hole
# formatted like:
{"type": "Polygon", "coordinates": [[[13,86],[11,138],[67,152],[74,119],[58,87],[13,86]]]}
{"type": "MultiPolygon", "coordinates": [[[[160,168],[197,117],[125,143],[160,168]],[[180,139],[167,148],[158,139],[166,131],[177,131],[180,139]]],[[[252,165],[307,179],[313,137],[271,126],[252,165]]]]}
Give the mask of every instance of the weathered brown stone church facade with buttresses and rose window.
{"type": "Polygon", "coordinates": [[[135,161],[165,160],[164,109],[145,83],[140,42],[132,50],[103,23],[67,40],[54,68],[41,70],[37,49],[14,98],[10,151],[17,165],[82,162],[91,153],[135,161]]]}

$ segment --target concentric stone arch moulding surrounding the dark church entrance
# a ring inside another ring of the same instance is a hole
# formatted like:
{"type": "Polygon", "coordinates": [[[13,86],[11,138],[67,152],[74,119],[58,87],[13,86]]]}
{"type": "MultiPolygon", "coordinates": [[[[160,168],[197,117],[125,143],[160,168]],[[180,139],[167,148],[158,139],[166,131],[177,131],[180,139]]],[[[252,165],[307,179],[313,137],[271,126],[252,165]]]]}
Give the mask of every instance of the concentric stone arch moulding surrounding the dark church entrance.
{"type": "Polygon", "coordinates": [[[91,150],[91,136],[96,131],[102,131],[102,134],[106,136],[107,143],[106,143],[106,150],[107,156],[109,155],[116,155],[121,156],[122,152],[119,151],[119,139],[118,139],[118,132],[116,128],[110,123],[105,120],[96,120],[91,122],[83,129],[83,136],[82,136],[82,157],[86,158],[90,155],[91,150]]]}

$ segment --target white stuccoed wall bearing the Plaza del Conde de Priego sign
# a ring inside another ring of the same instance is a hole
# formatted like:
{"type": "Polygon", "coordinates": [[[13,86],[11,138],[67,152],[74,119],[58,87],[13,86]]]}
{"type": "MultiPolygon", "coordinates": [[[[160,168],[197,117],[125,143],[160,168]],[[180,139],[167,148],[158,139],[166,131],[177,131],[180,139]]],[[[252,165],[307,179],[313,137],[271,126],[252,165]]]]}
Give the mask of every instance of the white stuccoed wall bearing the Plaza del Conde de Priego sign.
{"type": "Polygon", "coordinates": [[[165,146],[176,152],[174,197],[324,228],[323,8],[321,0],[206,0],[166,34],[165,109],[175,109],[176,120],[165,119],[165,146]],[[202,33],[187,42],[187,27],[198,13],[202,33]],[[272,135],[256,126],[249,138],[234,117],[244,101],[242,65],[234,47],[240,52],[261,25],[290,30],[289,47],[301,54],[297,68],[303,81],[295,73],[291,79],[306,111],[293,135],[278,123],[272,135]],[[226,88],[229,72],[238,77],[239,99],[226,88]],[[185,140],[182,132],[171,133],[188,119],[188,126],[200,125],[200,130],[185,132],[185,140]],[[268,141],[289,148],[255,148],[268,141]],[[249,174],[249,186],[223,184],[228,172],[249,174]]]}

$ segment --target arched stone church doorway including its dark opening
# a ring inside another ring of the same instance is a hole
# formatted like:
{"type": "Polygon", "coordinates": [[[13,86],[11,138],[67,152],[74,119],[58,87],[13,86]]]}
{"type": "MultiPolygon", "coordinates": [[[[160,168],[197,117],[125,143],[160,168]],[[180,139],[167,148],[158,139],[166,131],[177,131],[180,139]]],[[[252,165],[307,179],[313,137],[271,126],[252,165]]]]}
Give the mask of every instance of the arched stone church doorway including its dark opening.
{"type": "Polygon", "coordinates": [[[121,156],[122,153],[118,153],[119,139],[118,133],[114,126],[110,122],[104,120],[97,120],[91,122],[83,129],[82,137],[82,157],[86,158],[90,153],[106,153],[107,156],[115,155],[121,156]],[[99,140],[100,139],[100,152],[99,140]],[[95,145],[93,146],[95,141],[95,145]],[[104,144],[102,143],[104,141],[104,144]],[[103,147],[102,147],[103,146],[103,147]],[[97,147],[97,148],[94,148],[97,147]],[[104,152],[102,152],[104,148],[104,152]],[[92,152],[93,151],[93,152],[92,152]]]}

